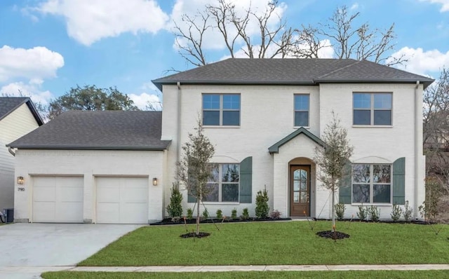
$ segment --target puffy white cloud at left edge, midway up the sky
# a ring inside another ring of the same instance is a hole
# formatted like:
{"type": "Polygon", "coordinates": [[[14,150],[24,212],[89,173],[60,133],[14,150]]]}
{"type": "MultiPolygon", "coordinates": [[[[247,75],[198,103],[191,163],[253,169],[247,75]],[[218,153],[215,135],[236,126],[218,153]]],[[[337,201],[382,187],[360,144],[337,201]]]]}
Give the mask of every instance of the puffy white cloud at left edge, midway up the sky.
{"type": "Polygon", "coordinates": [[[56,71],[62,66],[62,55],[43,46],[29,49],[10,46],[0,48],[0,82],[25,78],[33,83],[42,83],[43,79],[55,77],[56,71]]]}

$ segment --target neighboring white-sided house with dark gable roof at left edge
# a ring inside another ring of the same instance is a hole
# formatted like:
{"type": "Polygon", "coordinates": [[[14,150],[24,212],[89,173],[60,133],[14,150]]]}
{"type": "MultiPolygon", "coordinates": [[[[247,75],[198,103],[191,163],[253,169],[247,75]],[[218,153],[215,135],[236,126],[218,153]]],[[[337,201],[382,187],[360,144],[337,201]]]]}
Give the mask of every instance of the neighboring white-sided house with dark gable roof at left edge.
{"type": "Polygon", "coordinates": [[[0,97],[0,210],[14,207],[14,156],[6,144],[42,124],[29,97],[0,97]]]}

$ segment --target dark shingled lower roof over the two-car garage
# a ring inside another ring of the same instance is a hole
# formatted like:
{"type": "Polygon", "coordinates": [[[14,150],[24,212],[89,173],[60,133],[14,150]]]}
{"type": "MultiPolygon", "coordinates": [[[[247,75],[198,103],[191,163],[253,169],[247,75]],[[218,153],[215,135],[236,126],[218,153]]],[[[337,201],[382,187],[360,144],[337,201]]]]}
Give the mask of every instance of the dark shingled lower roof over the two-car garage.
{"type": "Polygon", "coordinates": [[[68,111],[20,137],[18,149],[163,150],[161,111],[68,111]]]}

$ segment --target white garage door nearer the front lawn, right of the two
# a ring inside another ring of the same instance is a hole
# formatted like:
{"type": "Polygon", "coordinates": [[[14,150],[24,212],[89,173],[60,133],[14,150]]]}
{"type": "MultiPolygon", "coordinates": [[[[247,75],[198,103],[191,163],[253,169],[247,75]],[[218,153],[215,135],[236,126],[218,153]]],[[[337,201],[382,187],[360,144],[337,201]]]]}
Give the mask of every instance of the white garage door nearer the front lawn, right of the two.
{"type": "Polygon", "coordinates": [[[97,223],[148,224],[148,177],[97,177],[97,223]]]}

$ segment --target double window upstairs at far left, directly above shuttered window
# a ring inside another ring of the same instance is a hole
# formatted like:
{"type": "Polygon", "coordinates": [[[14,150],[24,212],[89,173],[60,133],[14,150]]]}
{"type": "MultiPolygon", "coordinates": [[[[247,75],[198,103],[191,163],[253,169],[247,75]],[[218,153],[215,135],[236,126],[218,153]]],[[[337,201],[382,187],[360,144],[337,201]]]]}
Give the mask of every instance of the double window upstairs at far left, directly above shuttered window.
{"type": "Polygon", "coordinates": [[[203,94],[203,125],[239,126],[239,94],[203,94]]]}

